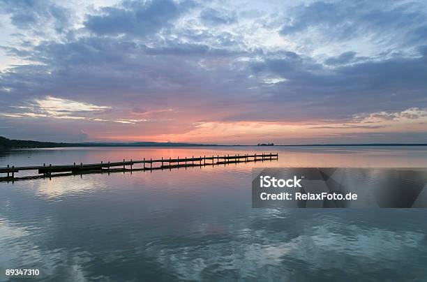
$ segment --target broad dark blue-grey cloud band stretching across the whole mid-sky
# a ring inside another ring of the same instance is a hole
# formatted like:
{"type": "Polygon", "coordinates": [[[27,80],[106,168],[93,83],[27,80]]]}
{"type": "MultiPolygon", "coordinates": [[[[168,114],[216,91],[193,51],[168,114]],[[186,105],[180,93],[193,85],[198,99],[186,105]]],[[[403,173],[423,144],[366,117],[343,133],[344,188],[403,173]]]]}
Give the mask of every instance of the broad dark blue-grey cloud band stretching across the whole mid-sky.
{"type": "MultiPolygon", "coordinates": [[[[19,66],[1,75],[1,85],[11,90],[3,91],[6,98],[0,109],[46,95],[129,109],[135,103],[185,108],[185,99],[190,99],[199,106],[206,103],[207,109],[209,104],[244,105],[244,111],[220,117],[228,121],[304,121],[347,119],[359,112],[398,112],[414,104],[427,105],[424,57],[363,61],[331,71],[310,57],[288,51],[265,53],[262,61],[234,64],[240,56],[259,54],[168,44],[148,48],[123,39],[89,37],[37,45],[25,54],[43,64],[19,66]],[[286,81],[265,85],[248,80],[250,75],[258,80],[282,77],[286,81]],[[398,96],[391,96],[394,93],[398,96]]],[[[352,57],[336,59],[343,63],[352,57]]]]}

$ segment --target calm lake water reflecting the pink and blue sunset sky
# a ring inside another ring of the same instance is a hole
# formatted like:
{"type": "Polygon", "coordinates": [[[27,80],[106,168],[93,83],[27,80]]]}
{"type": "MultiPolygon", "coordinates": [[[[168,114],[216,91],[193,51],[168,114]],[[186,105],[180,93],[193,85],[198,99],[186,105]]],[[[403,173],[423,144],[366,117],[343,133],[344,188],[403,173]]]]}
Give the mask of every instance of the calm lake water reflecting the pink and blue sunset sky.
{"type": "Polygon", "coordinates": [[[34,149],[0,167],[262,150],[279,160],[0,183],[0,281],[427,281],[427,209],[250,202],[253,167],[427,167],[426,147],[34,149]]]}

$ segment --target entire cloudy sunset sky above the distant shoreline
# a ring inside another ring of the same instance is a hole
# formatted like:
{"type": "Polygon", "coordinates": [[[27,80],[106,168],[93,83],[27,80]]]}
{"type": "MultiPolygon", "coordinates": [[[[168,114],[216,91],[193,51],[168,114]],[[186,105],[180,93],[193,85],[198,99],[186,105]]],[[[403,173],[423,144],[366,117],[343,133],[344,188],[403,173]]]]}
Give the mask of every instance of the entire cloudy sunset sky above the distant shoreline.
{"type": "Polygon", "coordinates": [[[426,1],[0,0],[0,135],[427,142],[426,1]]]}

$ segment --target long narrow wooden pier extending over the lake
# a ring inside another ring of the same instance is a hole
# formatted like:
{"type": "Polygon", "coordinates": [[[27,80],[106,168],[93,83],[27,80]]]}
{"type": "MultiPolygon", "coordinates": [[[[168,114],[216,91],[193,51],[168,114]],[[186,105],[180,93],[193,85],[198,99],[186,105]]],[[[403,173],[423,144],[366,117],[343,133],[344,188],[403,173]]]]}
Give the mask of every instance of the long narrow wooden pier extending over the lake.
{"type": "Polygon", "coordinates": [[[15,167],[8,165],[6,168],[0,168],[0,174],[6,176],[0,177],[0,182],[3,181],[16,181],[24,179],[37,179],[45,177],[59,177],[67,175],[83,175],[88,173],[103,173],[103,172],[133,172],[134,170],[165,170],[172,168],[188,168],[188,167],[202,167],[207,165],[227,165],[231,163],[248,163],[257,161],[271,161],[277,160],[278,154],[244,154],[244,155],[216,155],[216,156],[200,156],[191,158],[159,158],[159,159],[142,159],[133,161],[132,159],[119,162],[103,162],[100,163],[73,163],[72,165],[43,165],[39,166],[24,166],[15,167]],[[139,166],[135,166],[139,165],[139,166]],[[24,177],[16,177],[15,173],[24,170],[36,170],[38,175],[30,175],[24,177]]]}

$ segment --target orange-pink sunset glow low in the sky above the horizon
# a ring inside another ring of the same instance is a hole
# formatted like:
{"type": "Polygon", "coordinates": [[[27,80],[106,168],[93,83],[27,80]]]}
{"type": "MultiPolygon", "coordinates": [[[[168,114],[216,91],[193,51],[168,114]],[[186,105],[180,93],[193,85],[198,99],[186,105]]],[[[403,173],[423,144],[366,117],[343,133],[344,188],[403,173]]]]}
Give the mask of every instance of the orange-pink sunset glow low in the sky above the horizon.
{"type": "MultiPolygon", "coordinates": [[[[426,130],[427,117],[420,119],[377,119],[367,118],[345,124],[336,123],[283,123],[270,121],[210,121],[195,123],[183,133],[151,135],[111,134],[100,135],[99,140],[123,142],[189,142],[204,144],[257,144],[301,139],[338,138],[347,134],[396,133],[426,130]]],[[[175,128],[177,129],[177,128],[175,128]]],[[[178,130],[174,130],[179,132],[178,130]]]]}

